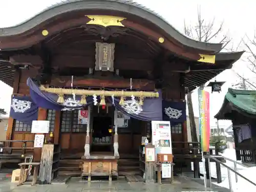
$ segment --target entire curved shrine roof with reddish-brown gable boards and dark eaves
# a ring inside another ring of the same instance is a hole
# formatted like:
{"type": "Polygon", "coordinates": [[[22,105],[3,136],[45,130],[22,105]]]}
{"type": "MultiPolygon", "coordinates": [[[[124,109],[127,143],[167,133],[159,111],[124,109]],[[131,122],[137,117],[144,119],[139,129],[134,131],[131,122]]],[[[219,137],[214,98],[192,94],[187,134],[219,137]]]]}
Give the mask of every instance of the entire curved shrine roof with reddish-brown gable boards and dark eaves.
{"type": "MultiPolygon", "coordinates": [[[[48,7],[22,24],[0,28],[0,67],[5,68],[3,72],[0,71],[0,80],[13,87],[14,72],[7,68],[8,62],[3,62],[3,60],[8,61],[10,56],[15,54],[31,54],[33,49],[29,49],[33,45],[48,41],[49,38],[58,34],[63,35],[64,38],[66,37],[65,31],[72,28],[89,26],[87,23],[90,19],[85,16],[89,14],[125,17],[127,19],[122,20],[121,23],[125,28],[132,29],[129,32],[132,34],[129,35],[140,34],[142,36],[140,40],[149,44],[148,47],[164,48],[175,57],[183,59],[182,62],[189,62],[190,71],[184,77],[184,86],[188,87],[189,91],[206,83],[225,69],[231,68],[232,63],[243,54],[243,52],[219,53],[222,44],[210,44],[190,39],[178,32],[156,12],[133,1],[67,0],[48,7]],[[49,31],[48,36],[41,34],[44,29],[49,31]],[[159,37],[165,39],[161,44],[158,41],[159,37]],[[198,62],[199,54],[215,54],[215,65],[198,62]]],[[[78,38],[76,35],[73,36],[78,38]]],[[[133,43],[131,40],[127,41],[130,44],[133,43]]]]}

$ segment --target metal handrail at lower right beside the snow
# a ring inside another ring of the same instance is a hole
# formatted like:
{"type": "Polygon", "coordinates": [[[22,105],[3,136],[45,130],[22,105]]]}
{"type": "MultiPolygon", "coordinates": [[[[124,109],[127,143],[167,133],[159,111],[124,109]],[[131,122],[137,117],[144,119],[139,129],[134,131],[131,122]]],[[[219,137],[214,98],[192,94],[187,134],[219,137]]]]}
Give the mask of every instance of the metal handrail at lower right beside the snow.
{"type": "MultiPolygon", "coordinates": [[[[209,187],[211,188],[211,174],[210,174],[210,159],[216,161],[217,163],[220,163],[221,165],[223,165],[224,167],[227,168],[227,174],[228,174],[228,184],[229,184],[229,191],[232,192],[232,184],[231,184],[231,177],[230,177],[230,170],[237,176],[242,177],[244,180],[248,181],[249,183],[253,184],[254,186],[256,186],[256,183],[252,182],[251,180],[247,179],[246,177],[244,177],[243,175],[241,175],[240,173],[237,172],[237,170],[234,170],[233,168],[227,166],[225,163],[221,162],[220,160],[218,160],[217,158],[215,158],[215,156],[212,155],[206,155],[204,156],[204,158],[208,159],[208,166],[209,166],[209,187]]],[[[225,157],[223,157],[225,159],[225,157]]],[[[231,160],[229,158],[226,158],[227,160],[231,160]]],[[[232,162],[235,163],[234,160],[231,160],[232,162]]],[[[241,164],[239,162],[236,162],[238,164],[241,164]]],[[[243,165],[243,164],[242,164],[243,165]]],[[[244,166],[244,165],[243,165],[244,166]]],[[[245,166],[248,167],[248,166],[245,166]]],[[[236,168],[236,167],[234,167],[236,168]]],[[[236,182],[237,182],[237,178],[236,178],[236,182]]]]}

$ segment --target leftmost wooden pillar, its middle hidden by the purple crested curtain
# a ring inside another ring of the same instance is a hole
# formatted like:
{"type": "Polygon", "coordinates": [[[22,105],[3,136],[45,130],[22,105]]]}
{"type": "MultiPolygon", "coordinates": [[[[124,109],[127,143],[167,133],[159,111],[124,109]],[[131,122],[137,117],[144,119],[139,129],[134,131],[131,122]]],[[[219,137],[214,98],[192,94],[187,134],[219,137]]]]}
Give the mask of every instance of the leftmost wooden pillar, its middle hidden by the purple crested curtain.
{"type": "MultiPolygon", "coordinates": [[[[17,70],[14,72],[14,86],[13,86],[13,92],[12,92],[13,94],[18,93],[19,79],[20,79],[20,71],[17,70]]],[[[14,124],[14,119],[9,117],[8,127],[6,132],[6,140],[12,139],[13,124],[14,124]]]]}

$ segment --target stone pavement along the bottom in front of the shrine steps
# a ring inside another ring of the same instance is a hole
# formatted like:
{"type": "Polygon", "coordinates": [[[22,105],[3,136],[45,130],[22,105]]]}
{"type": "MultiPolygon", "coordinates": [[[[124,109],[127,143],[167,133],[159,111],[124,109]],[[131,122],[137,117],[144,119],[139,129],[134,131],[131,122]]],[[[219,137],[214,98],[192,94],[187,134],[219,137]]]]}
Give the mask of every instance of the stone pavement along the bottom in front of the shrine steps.
{"type": "MultiPolygon", "coordinates": [[[[31,186],[28,184],[18,186],[11,183],[9,179],[0,181],[0,192],[176,192],[176,191],[204,191],[204,186],[188,178],[176,178],[174,184],[144,184],[143,182],[129,183],[125,180],[118,181],[92,181],[82,182],[77,178],[72,178],[66,184],[51,184],[31,186]]],[[[209,190],[208,191],[216,191],[209,190]]],[[[220,190],[219,190],[220,191],[220,190]]]]}

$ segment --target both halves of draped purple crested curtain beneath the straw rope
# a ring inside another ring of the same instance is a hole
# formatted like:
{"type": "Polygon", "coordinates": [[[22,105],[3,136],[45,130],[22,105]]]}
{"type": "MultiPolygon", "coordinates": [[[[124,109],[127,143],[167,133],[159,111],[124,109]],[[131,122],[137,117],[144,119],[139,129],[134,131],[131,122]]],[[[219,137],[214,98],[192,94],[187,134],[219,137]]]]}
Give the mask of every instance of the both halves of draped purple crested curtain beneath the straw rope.
{"type": "MultiPolygon", "coordinates": [[[[65,102],[60,104],[57,102],[58,95],[41,91],[31,78],[27,79],[27,85],[30,88],[31,98],[41,108],[65,111],[79,110],[86,106],[79,104],[81,99],[79,95],[75,96],[75,99],[72,95],[65,95],[65,102]]],[[[112,97],[107,97],[106,99],[110,100],[119,111],[132,118],[143,121],[162,120],[161,92],[159,92],[159,98],[145,98],[142,106],[132,98],[126,98],[125,105],[122,106],[119,105],[120,100],[118,98],[114,98],[114,101],[112,97]]],[[[99,97],[97,97],[97,100],[100,100],[99,97]]],[[[93,97],[87,97],[87,105],[92,102],[93,97]]]]}

